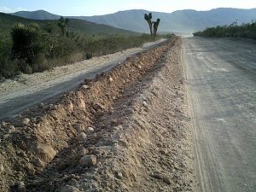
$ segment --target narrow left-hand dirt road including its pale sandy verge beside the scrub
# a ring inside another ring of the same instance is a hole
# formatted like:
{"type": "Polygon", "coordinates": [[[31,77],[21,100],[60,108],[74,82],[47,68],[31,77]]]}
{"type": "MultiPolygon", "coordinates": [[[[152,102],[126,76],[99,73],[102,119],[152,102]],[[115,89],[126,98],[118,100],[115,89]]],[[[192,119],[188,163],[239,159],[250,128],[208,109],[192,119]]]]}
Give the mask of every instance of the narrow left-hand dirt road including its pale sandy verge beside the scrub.
{"type": "Polygon", "coordinates": [[[127,49],[117,54],[93,58],[91,61],[56,67],[52,72],[26,76],[25,80],[21,78],[17,81],[2,83],[0,84],[0,119],[9,119],[39,102],[49,102],[50,98],[77,88],[84,78],[91,79],[96,73],[108,71],[125,61],[126,57],[150,49],[163,41],[165,39],[144,44],[142,48],[127,49]]]}

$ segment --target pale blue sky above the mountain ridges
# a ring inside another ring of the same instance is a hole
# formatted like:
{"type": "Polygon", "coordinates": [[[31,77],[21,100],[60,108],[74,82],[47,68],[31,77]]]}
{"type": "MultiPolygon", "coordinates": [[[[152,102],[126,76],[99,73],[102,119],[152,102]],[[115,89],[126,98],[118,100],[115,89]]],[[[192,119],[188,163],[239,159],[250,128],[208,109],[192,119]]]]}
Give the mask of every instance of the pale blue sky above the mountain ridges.
{"type": "Polygon", "coordinates": [[[57,15],[105,15],[127,9],[171,13],[180,9],[256,8],[255,0],[0,0],[0,12],[44,9],[57,15]]]}

